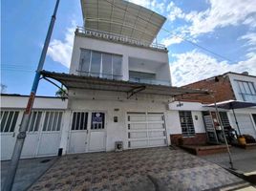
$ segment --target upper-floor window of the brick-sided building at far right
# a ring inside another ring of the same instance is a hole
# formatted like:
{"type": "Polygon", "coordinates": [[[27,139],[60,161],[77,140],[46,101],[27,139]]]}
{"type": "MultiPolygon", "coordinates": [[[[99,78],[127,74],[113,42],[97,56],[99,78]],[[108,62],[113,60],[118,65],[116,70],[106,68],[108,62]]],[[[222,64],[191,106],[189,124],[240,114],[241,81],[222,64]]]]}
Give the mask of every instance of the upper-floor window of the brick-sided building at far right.
{"type": "Polygon", "coordinates": [[[256,102],[256,91],[253,82],[237,80],[237,83],[240,91],[239,94],[243,100],[256,102]]]}

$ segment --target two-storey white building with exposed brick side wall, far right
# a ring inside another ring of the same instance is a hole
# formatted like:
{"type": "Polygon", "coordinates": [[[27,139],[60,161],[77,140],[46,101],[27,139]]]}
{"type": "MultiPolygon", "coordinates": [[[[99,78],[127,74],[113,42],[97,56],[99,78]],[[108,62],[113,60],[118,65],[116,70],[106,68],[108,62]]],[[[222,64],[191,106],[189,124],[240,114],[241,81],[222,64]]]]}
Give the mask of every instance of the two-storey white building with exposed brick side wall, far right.
{"type": "MultiPolygon", "coordinates": [[[[203,79],[188,85],[186,88],[207,89],[215,96],[216,102],[229,99],[256,103],[256,76],[248,73],[225,73],[203,79]]],[[[213,103],[212,96],[183,96],[186,100],[197,100],[204,103],[213,103]]],[[[227,120],[237,130],[232,111],[227,112],[227,120]]],[[[242,134],[256,138],[256,107],[235,109],[237,121],[242,134]]],[[[227,121],[226,120],[226,121],[227,121]]]]}

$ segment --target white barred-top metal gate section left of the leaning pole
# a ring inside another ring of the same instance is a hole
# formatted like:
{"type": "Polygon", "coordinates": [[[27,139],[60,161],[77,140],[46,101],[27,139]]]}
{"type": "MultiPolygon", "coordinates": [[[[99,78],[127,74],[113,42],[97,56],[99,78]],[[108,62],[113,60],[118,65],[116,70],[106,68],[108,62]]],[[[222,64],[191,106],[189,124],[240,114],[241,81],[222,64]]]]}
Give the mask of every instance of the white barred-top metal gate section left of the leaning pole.
{"type": "Polygon", "coordinates": [[[18,131],[19,111],[1,111],[1,160],[11,159],[18,131]]]}

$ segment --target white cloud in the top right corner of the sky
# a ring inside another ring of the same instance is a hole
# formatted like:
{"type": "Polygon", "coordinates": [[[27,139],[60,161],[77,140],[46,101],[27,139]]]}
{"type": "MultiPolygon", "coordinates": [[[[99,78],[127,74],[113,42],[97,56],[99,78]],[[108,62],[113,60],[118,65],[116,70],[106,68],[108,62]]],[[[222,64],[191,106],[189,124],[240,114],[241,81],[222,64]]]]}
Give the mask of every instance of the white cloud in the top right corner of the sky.
{"type": "Polygon", "coordinates": [[[256,3],[254,0],[208,0],[209,8],[205,11],[184,13],[171,2],[166,10],[167,18],[174,21],[182,18],[190,23],[189,33],[197,36],[206,32],[214,32],[218,28],[237,26],[256,26],[256,3]]]}

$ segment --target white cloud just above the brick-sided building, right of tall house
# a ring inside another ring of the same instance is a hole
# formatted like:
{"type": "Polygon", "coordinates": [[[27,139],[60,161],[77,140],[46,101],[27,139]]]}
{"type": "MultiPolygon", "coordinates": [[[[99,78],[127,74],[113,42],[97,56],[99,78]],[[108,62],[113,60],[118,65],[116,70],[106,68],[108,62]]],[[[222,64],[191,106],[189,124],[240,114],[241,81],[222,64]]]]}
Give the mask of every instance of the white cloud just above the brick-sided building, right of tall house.
{"type": "Polygon", "coordinates": [[[176,61],[170,64],[174,86],[189,84],[207,77],[226,72],[249,72],[256,74],[256,53],[247,53],[247,59],[235,64],[219,62],[215,58],[193,50],[188,53],[172,54],[176,61]]]}

